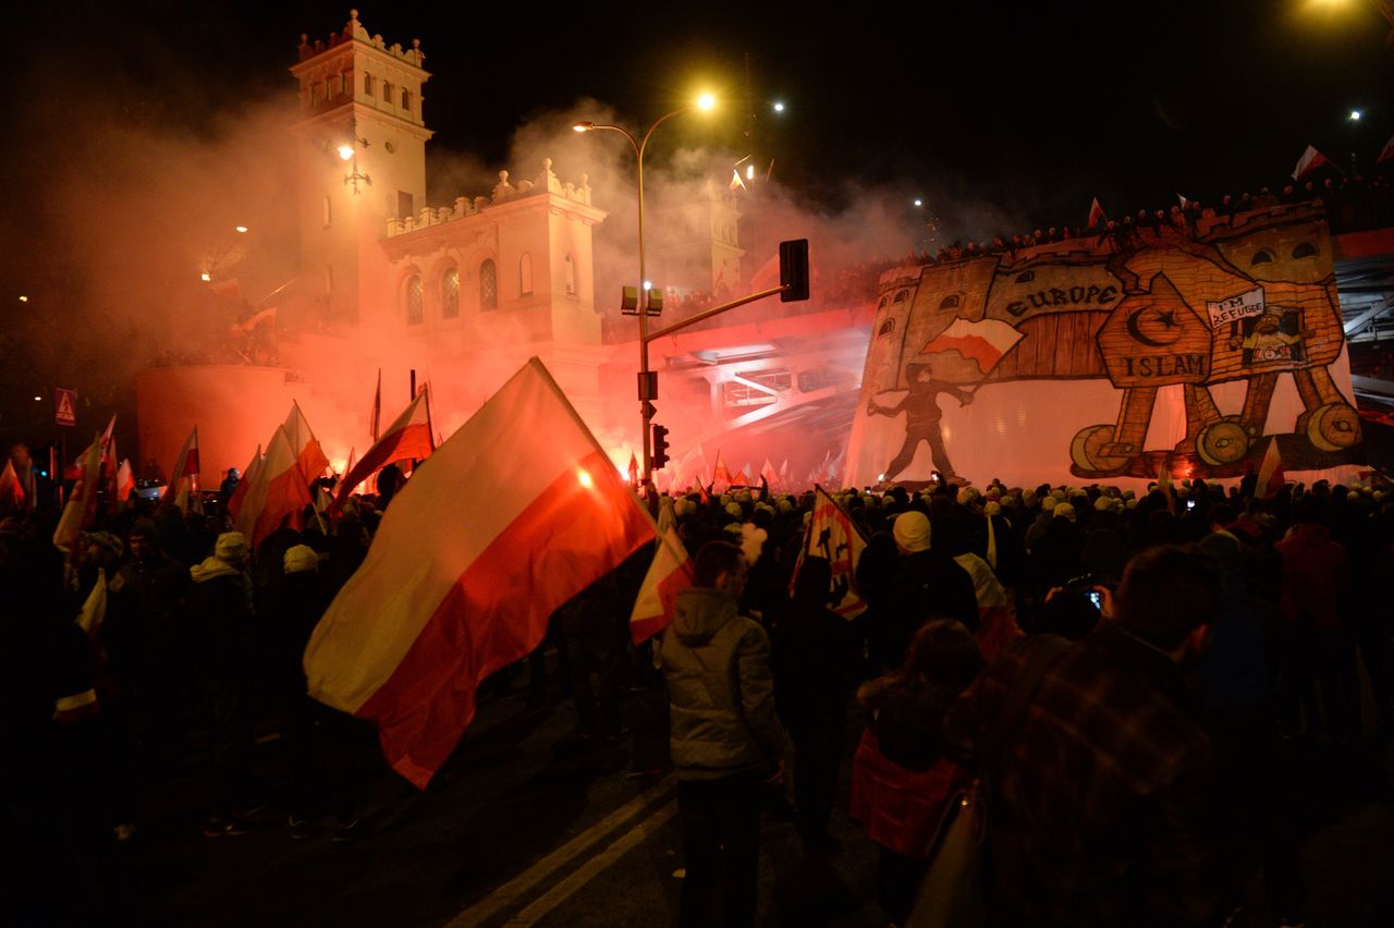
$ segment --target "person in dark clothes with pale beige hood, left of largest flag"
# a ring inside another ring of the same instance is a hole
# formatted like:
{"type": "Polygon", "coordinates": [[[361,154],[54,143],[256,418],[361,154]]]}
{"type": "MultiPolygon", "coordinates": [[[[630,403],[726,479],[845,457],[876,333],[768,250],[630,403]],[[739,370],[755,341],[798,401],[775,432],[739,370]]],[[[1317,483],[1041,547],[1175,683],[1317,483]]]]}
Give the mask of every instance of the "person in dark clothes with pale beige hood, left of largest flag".
{"type": "Polygon", "coordinates": [[[247,688],[252,662],[252,581],[241,532],[223,532],[213,556],[190,569],[188,617],[194,673],[206,701],[213,794],[204,835],[243,835],[251,812],[252,737],[247,688]]]}

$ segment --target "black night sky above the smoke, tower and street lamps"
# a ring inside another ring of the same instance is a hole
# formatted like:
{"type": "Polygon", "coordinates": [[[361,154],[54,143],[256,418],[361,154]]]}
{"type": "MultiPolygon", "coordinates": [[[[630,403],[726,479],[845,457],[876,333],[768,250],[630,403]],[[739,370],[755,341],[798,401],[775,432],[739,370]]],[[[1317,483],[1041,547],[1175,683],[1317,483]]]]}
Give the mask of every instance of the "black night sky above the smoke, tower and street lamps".
{"type": "MultiPolygon", "coordinates": [[[[199,131],[289,93],[300,33],[328,36],[348,8],[66,3],[21,24],[22,85],[84,74],[199,131]]],[[[1394,135],[1394,47],[1374,0],[843,4],[842,17],[778,3],[358,8],[389,43],[421,39],[432,148],[484,162],[577,99],[640,127],[698,84],[726,109],[664,141],[744,153],[749,54],[765,159],[832,206],[849,184],[907,198],[934,184],[1034,224],[1075,223],[1093,195],[1121,212],[1281,183],[1308,144],[1369,166],[1394,135]]]]}

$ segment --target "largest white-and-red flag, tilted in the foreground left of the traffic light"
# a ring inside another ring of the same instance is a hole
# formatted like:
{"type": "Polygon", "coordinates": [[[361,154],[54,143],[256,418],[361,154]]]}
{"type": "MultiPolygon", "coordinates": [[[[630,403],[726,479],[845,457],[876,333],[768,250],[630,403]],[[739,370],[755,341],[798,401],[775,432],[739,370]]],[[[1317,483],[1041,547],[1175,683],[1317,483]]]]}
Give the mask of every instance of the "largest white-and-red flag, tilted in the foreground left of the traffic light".
{"type": "Polygon", "coordinates": [[[390,766],[425,787],[474,719],[478,683],[654,534],[533,358],[393,499],[311,635],[309,694],[372,722],[390,766]]]}

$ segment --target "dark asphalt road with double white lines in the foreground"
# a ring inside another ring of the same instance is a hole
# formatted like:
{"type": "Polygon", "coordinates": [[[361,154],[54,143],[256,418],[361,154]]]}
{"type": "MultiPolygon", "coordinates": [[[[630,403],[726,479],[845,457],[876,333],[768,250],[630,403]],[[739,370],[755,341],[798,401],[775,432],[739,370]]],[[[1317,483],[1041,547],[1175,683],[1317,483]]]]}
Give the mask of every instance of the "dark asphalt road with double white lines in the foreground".
{"type": "MultiPolygon", "coordinates": [[[[353,843],[332,842],[328,817],[293,840],[273,787],[250,833],[204,837],[206,794],[191,758],[146,789],[137,837],[112,857],[116,878],[102,911],[155,925],[676,924],[682,857],[671,773],[629,775],[633,751],[647,747],[641,737],[615,745],[576,738],[572,704],[555,680],[551,687],[535,708],[521,684],[482,704],[424,793],[365,745],[368,833],[353,843]]],[[[625,704],[637,727],[644,705],[636,697],[625,704]]],[[[263,733],[256,768],[268,783],[282,748],[263,733]]],[[[1294,762],[1312,800],[1306,924],[1394,924],[1390,754],[1334,764],[1324,748],[1310,748],[1294,762]]],[[[885,925],[874,902],[874,846],[841,811],[832,832],[842,853],[806,860],[793,825],[765,815],[761,925],[885,925]]],[[[1262,906],[1236,921],[1276,924],[1262,906]]]]}

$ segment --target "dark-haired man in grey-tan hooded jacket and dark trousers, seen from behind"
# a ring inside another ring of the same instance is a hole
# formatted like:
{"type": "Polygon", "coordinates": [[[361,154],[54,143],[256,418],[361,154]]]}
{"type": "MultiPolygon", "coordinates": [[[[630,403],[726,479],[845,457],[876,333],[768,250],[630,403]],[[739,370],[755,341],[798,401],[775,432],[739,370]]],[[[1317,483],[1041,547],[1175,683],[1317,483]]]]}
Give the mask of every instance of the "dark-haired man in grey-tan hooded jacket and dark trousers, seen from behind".
{"type": "Polygon", "coordinates": [[[672,628],[659,645],[687,868],[679,914],[684,927],[754,924],[760,787],[771,772],[778,776],[785,751],[769,637],[737,612],[746,570],[739,546],[703,545],[696,585],[677,594],[672,628]]]}

